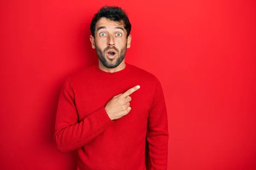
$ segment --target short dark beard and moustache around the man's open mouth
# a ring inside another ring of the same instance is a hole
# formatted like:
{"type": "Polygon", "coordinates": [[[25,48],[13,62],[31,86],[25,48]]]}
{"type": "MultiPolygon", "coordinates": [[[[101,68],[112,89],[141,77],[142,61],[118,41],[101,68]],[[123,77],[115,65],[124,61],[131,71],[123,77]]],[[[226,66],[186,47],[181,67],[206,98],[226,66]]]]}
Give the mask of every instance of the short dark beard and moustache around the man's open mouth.
{"type": "Polygon", "coordinates": [[[99,60],[102,64],[107,68],[116,68],[125,58],[127,43],[125,46],[119,51],[116,47],[108,46],[103,51],[95,44],[95,49],[99,60]],[[115,59],[108,59],[105,54],[108,50],[115,50],[116,51],[116,58],[115,59]]]}

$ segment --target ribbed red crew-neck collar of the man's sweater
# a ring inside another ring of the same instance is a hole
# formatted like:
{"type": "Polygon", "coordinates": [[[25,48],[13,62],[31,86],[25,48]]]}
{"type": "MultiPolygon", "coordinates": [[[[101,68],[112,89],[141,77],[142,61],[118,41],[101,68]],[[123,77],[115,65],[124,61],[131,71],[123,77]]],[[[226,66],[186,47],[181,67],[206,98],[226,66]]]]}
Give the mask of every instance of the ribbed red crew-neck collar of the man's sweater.
{"type": "Polygon", "coordinates": [[[94,65],[94,67],[95,67],[95,70],[96,70],[96,74],[98,74],[101,77],[106,77],[106,78],[110,78],[110,79],[125,77],[125,75],[128,74],[128,72],[131,70],[131,65],[128,64],[127,62],[125,62],[125,68],[123,68],[120,71],[113,72],[113,73],[109,73],[109,72],[101,70],[99,68],[99,63],[94,65]]]}

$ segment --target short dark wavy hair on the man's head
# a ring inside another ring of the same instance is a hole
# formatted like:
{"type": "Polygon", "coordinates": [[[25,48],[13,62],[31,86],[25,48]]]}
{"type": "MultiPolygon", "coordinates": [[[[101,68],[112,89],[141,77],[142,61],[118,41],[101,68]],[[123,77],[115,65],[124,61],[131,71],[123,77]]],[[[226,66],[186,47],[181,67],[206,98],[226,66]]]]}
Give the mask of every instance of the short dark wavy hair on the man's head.
{"type": "Polygon", "coordinates": [[[103,6],[102,8],[99,9],[97,14],[94,14],[93,20],[90,24],[90,31],[94,38],[95,38],[96,23],[102,17],[108,18],[116,22],[123,22],[125,30],[127,32],[126,38],[128,38],[131,32],[131,23],[125,11],[122,8],[117,6],[103,6]]]}

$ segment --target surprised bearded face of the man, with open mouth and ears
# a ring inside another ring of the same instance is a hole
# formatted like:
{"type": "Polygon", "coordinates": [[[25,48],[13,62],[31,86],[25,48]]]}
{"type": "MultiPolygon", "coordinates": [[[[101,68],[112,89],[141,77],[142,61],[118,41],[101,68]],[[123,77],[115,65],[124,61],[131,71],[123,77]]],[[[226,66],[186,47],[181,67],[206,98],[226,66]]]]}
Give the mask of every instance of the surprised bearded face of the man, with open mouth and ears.
{"type": "Polygon", "coordinates": [[[102,17],[95,28],[95,38],[90,36],[92,48],[96,49],[97,56],[107,68],[115,68],[124,61],[126,48],[131,46],[131,35],[122,23],[102,17]]]}

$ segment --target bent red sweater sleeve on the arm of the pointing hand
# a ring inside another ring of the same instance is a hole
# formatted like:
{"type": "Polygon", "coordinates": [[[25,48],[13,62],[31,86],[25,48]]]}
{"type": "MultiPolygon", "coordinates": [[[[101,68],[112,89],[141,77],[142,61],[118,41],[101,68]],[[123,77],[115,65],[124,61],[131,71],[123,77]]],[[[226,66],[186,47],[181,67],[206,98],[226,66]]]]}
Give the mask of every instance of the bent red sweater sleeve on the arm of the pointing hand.
{"type": "Polygon", "coordinates": [[[54,139],[59,151],[64,153],[83,147],[102,133],[111,122],[103,106],[79,122],[70,78],[65,81],[59,96],[55,123],[54,139]]]}

